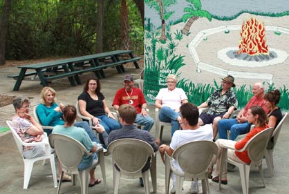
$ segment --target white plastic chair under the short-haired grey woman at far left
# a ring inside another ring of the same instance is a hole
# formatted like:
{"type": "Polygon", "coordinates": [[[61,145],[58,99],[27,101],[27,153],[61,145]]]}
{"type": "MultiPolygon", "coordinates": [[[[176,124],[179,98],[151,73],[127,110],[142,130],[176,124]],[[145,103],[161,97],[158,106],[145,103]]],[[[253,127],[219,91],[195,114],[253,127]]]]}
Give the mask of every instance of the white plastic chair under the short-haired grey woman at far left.
{"type": "Polygon", "coordinates": [[[12,132],[12,136],[15,139],[15,143],[17,144],[17,148],[18,148],[19,152],[21,153],[21,156],[22,156],[22,159],[24,162],[24,185],[23,185],[23,188],[25,188],[25,189],[28,188],[28,184],[29,184],[29,180],[30,180],[30,176],[32,173],[32,168],[33,168],[34,162],[37,162],[39,160],[44,160],[43,164],[45,164],[46,159],[50,159],[50,166],[51,166],[51,171],[53,174],[53,182],[54,182],[54,186],[57,187],[54,155],[50,153],[50,146],[49,146],[49,142],[48,142],[48,138],[47,138],[46,133],[44,133],[44,137],[42,137],[43,138],[42,142],[25,143],[21,140],[21,138],[16,133],[14,128],[12,128],[12,122],[6,121],[6,124],[9,126],[9,128],[12,132]],[[22,153],[23,152],[23,146],[41,146],[41,145],[46,146],[46,155],[41,156],[41,157],[30,158],[30,159],[24,158],[23,153],[22,153]]]}

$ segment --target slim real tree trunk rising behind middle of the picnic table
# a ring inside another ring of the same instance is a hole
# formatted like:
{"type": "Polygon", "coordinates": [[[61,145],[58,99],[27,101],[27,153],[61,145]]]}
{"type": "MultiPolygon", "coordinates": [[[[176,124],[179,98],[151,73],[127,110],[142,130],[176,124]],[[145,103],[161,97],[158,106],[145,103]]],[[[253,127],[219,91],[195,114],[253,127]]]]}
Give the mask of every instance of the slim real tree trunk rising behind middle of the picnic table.
{"type": "Polygon", "coordinates": [[[103,52],[104,1],[97,1],[96,52],[103,52]]]}

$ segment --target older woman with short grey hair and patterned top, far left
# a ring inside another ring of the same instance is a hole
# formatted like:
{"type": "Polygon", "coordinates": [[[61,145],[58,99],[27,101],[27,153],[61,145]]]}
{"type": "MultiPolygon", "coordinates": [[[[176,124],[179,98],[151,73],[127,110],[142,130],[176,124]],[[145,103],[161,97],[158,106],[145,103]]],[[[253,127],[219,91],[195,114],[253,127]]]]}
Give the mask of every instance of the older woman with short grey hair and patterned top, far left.
{"type": "MultiPolygon", "coordinates": [[[[30,101],[27,97],[16,97],[12,102],[15,115],[12,117],[12,128],[21,137],[23,142],[41,142],[44,130],[29,115],[30,101]]],[[[29,146],[23,148],[25,158],[39,157],[45,155],[45,146],[29,146]]]]}

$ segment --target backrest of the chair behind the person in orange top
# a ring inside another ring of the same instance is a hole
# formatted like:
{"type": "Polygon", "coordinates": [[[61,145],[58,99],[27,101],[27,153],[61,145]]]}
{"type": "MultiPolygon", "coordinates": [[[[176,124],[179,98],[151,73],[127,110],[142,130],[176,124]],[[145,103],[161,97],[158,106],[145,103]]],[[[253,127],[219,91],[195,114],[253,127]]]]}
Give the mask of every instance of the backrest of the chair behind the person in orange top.
{"type": "Polygon", "coordinates": [[[265,155],[265,149],[271,138],[274,128],[266,128],[252,137],[244,146],[248,151],[251,162],[259,163],[265,155]]]}

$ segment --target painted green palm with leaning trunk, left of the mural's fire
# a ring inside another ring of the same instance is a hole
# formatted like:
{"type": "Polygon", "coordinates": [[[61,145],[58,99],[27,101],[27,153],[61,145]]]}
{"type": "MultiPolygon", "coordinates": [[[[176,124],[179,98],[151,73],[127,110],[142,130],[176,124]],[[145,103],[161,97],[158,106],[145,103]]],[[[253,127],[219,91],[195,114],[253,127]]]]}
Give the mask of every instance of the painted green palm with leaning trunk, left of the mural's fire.
{"type": "Polygon", "coordinates": [[[206,10],[202,10],[201,0],[187,0],[187,2],[192,3],[189,5],[189,8],[184,8],[184,12],[187,12],[183,15],[183,22],[185,26],[183,28],[183,34],[187,35],[189,33],[189,28],[191,28],[194,21],[196,21],[199,17],[205,17],[209,21],[212,21],[212,16],[206,10]]]}

